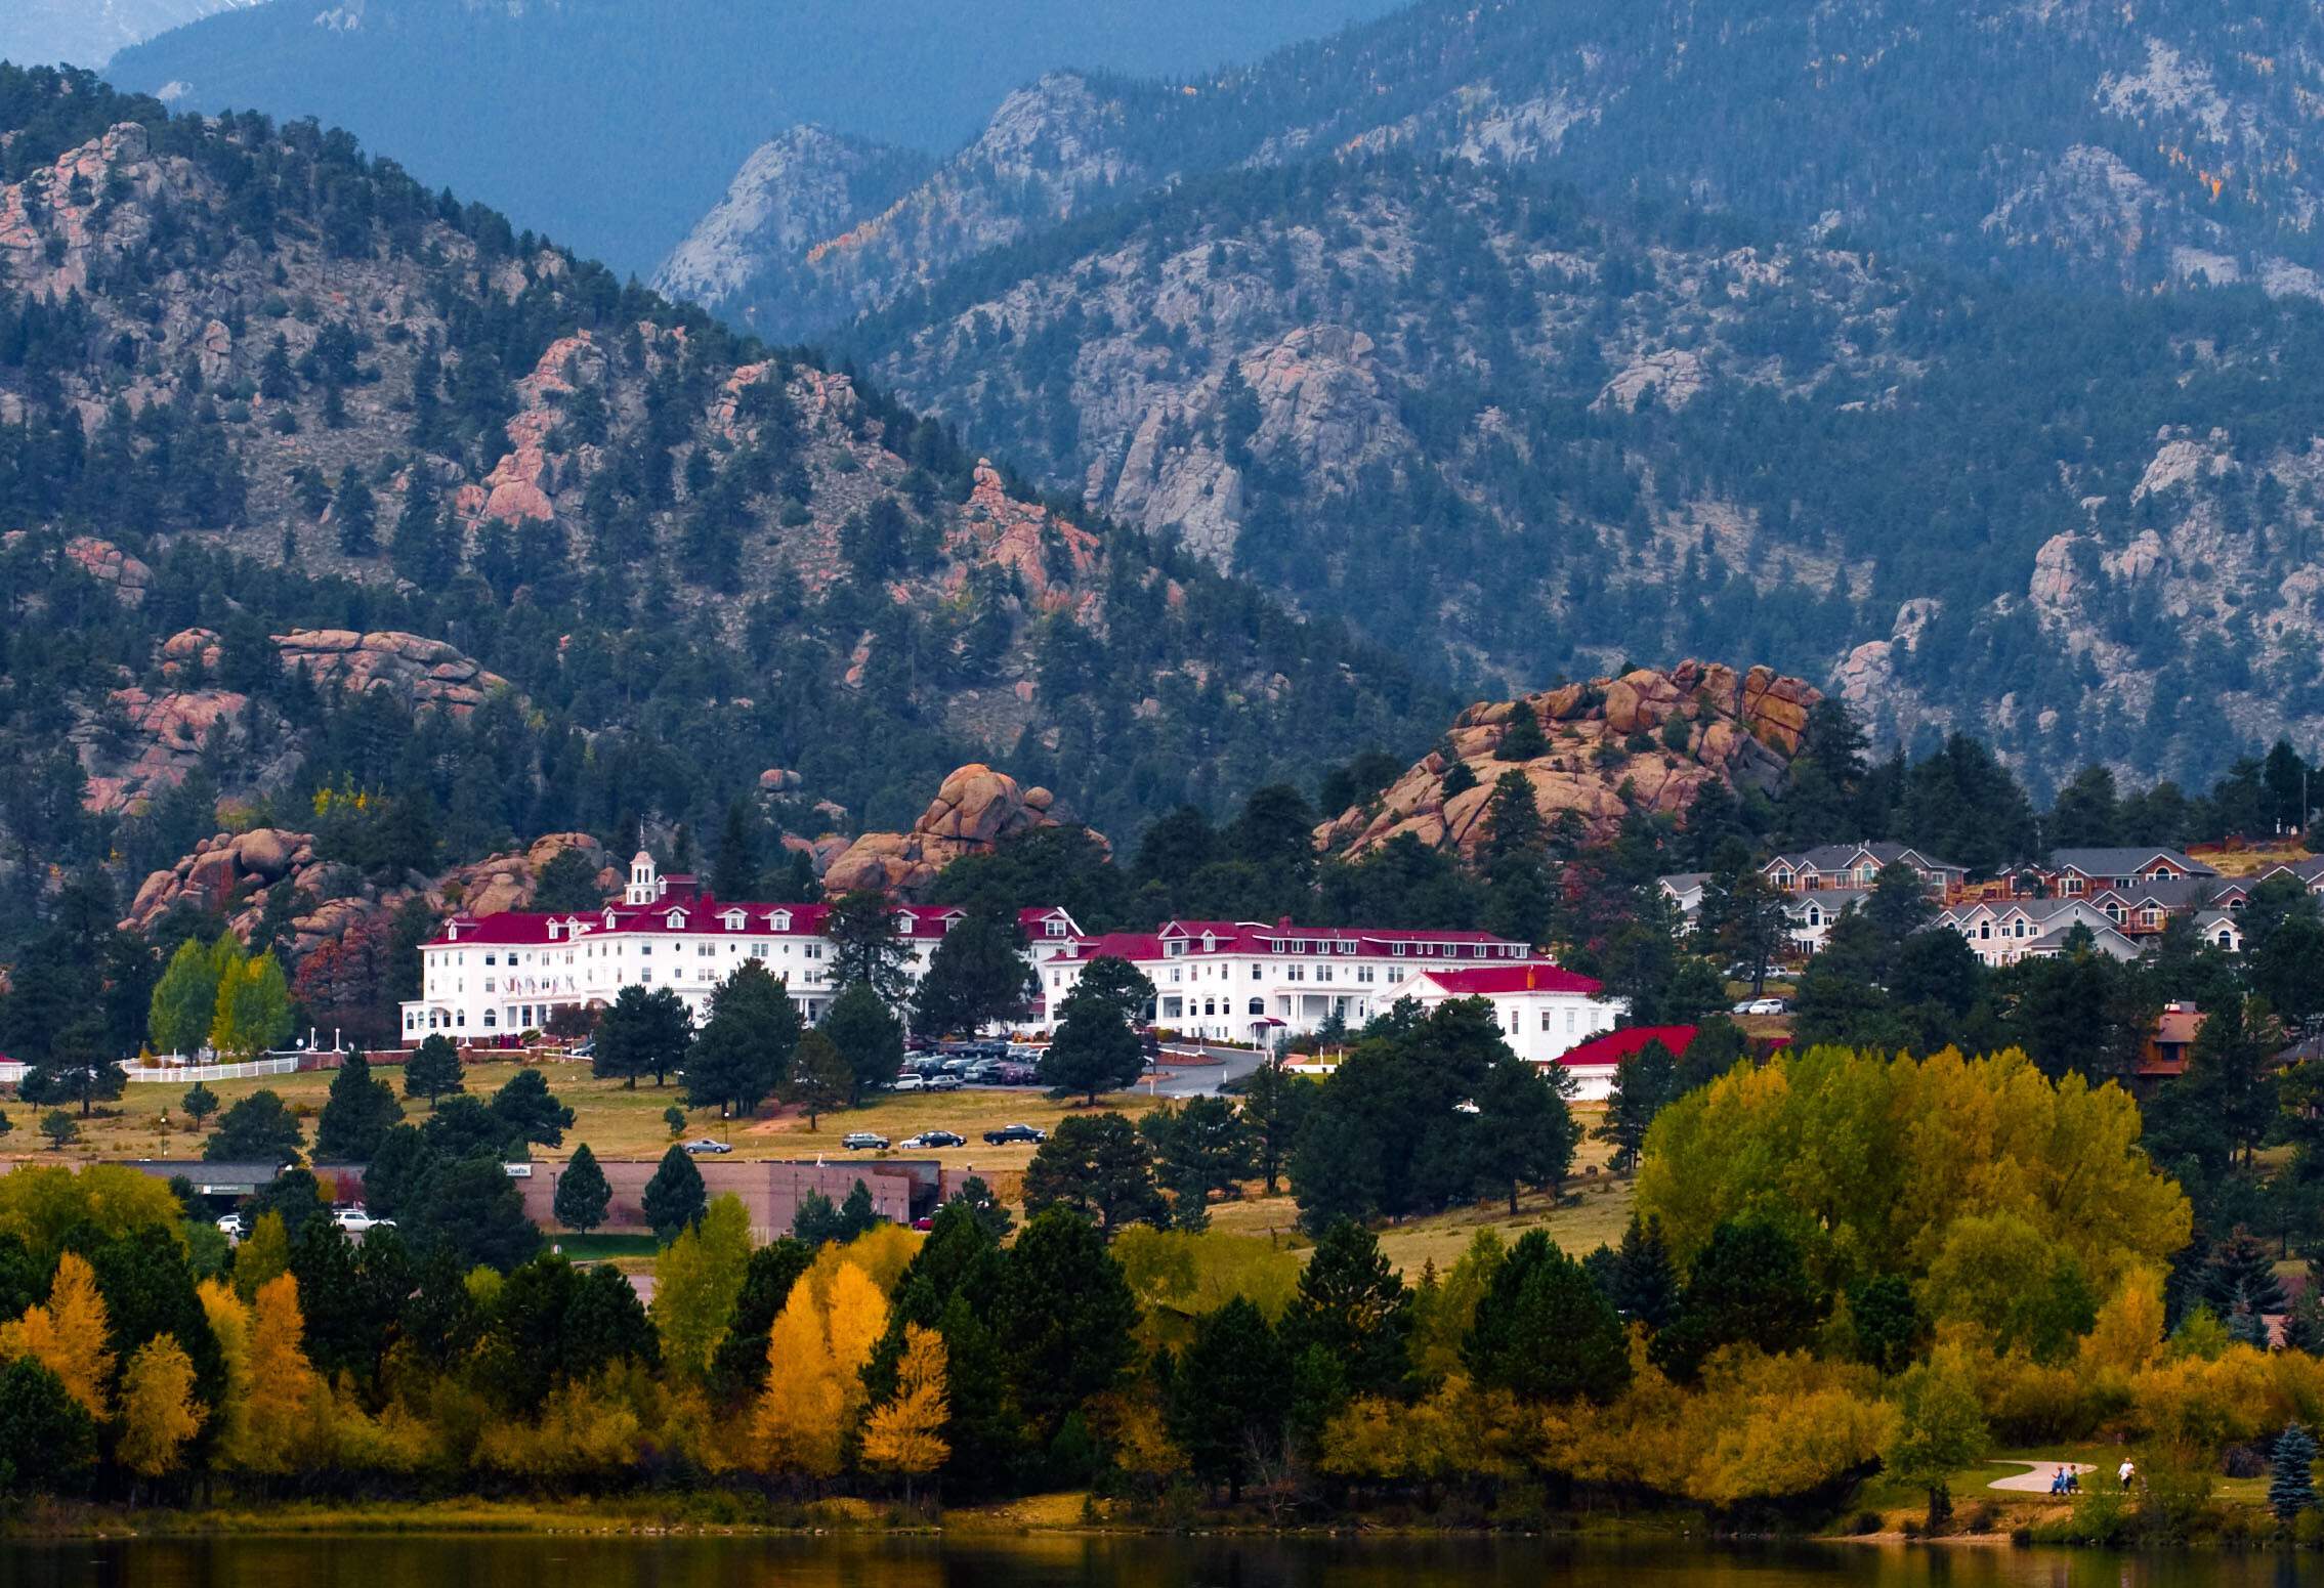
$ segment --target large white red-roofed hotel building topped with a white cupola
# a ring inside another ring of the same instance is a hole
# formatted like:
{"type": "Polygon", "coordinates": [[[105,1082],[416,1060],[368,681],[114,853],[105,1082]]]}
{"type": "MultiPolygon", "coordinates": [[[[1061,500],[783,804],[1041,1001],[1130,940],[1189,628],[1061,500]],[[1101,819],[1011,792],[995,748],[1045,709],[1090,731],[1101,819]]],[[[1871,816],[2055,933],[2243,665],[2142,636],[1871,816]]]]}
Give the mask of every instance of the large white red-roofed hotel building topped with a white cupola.
{"type": "MultiPolygon", "coordinates": [[[[621,903],[597,910],[456,915],[421,945],[421,996],[402,1005],[402,1040],[435,1033],[456,1042],[539,1031],[560,1008],[602,1008],[623,987],[669,987],[700,1022],[718,982],[758,959],[790,984],[809,1022],[823,1017],[839,984],[823,936],[830,905],[727,903],[688,875],[660,875],[639,850],[621,903]]],[[[962,910],[897,905],[897,936],[911,945],[913,980],[962,910]]],[[[1071,940],[1064,910],[1023,910],[1027,943],[1071,940]]]]}

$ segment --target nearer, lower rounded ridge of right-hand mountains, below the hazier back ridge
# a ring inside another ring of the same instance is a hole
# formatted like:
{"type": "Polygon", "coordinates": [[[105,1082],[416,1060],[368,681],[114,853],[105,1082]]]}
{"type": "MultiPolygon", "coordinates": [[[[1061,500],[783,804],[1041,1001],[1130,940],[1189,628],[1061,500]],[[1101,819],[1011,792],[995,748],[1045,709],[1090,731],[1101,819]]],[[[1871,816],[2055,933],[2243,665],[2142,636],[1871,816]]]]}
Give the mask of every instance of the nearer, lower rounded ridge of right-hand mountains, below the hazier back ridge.
{"type": "Polygon", "coordinates": [[[1116,204],[841,346],[1464,690],[1752,655],[2036,775],[2324,729],[2324,309],[2064,293],[1390,156],[1116,204]]]}

